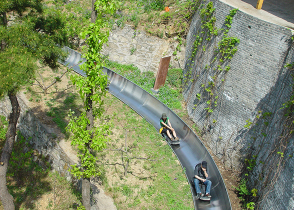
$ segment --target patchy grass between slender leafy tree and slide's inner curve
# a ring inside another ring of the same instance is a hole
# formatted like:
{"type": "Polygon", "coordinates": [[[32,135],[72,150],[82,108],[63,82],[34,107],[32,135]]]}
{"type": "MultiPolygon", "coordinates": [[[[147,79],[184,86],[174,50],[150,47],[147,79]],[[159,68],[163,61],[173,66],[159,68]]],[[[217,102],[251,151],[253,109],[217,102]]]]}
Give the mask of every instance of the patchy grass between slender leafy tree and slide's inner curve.
{"type": "Polygon", "coordinates": [[[105,106],[113,123],[107,149],[126,150],[126,134],[127,155],[121,155],[117,150],[104,150],[97,154],[103,164],[106,190],[112,195],[117,208],[193,209],[184,171],[161,135],[117,98],[108,96],[105,106]],[[123,111],[119,111],[121,109],[123,111]],[[120,140],[116,140],[116,136],[120,140]],[[129,159],[126,177],[121,165],[122,156],[124,161],[129,159]]]}

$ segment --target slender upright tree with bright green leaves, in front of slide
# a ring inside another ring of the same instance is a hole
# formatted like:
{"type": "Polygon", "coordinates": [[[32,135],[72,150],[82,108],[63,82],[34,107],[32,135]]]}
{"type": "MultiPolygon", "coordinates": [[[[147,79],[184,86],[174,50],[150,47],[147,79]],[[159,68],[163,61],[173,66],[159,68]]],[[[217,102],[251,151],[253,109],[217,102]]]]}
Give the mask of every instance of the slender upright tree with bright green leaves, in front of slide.
{"type": "Polygon", "coordinates": [[[117,3],[112,0],[96,0],[94,6],[96,19],[92,19],[89,26],[80,33],[86,40],[86,45],[83,47],[83,57],[86,62],[80,66],[86,75],[71,77],[72,83],[76,85],[84,100],[85,111],[79,117],[73,117],[70,112],[71,120],[67,126],[68,131],[73,133],[71,144],[77,145],[79,149],[81,165],[72,165],[71,172],[83,178],[82,197],[85,209],[90,208],[89,179],[100,174],[92,151],[105,148],[109,133],[107,123],[102,122],[94,126],[94,117],[100,118],[104,113],[103,97],[107,85],[107,75],[102,72],[103,59],[100,53],[109,36],[109,25],[105,14],[113,13],[117,3]]]}

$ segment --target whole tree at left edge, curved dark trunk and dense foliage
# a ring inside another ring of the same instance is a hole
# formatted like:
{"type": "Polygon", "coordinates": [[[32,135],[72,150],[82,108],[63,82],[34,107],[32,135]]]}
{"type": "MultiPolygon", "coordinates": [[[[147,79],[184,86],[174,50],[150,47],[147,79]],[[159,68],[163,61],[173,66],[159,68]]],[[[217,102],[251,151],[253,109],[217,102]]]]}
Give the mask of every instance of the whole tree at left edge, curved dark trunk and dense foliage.
{"type": "Polygon", "coordinates": [[[41,0],[0,1],[0,97],[8,95],[12,112],[8,117],[5,145],[0,157],[0,200],[4,209],[14,209],[6,187],[20,107],[17,91],[33,77],[40,61],[52,69],[64,58],[60,46],[66,43],[63,23],[54,13],[43,15],[41,0]]]}

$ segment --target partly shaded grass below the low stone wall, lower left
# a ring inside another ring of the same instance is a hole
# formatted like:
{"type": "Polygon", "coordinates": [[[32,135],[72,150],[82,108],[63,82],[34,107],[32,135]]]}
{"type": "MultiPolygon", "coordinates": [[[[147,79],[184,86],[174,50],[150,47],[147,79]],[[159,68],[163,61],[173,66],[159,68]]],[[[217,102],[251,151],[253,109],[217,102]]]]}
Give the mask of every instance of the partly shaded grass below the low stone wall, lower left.
{"type": "MultiPolygon", "coordinates": [[[[17,136],[6,174],[7,188],[13,196],[15,209],[38,209],[39,199],[46,195],[48,204],[43,208],[76,209],[80,204],[80,193],[64,177],[51,171],[50,163],[32,148],[21,133],[17,136]],[[36,161],[34,156],[38,156],[36,161]]],[[[1,145],[4,141],[0,139],[1,145]]],[[[3,209],[1,202],[0,209],[3,209]]]]}

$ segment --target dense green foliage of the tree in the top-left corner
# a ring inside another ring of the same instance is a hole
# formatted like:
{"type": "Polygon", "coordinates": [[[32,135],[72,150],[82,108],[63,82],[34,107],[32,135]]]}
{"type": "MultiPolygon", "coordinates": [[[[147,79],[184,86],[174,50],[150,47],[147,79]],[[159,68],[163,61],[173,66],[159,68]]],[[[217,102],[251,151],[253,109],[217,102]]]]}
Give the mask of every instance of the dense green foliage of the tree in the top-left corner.
{"type": "Polygon", "coordinates": [[[66,42],[63,24],[58,16],[49,18],[40,13],[41,5],[38,0],[0,3],[2,12],[27,13],[8,19],[9,25],[4,18],[0,19],[0,41],[4,43],[0,50],[0,97],[7,91],[16,92],[34,76],[37,59],[54,69],[58,66],[57,60],[65,55],[57,47],[66,42]],[[52,23],[49,25],[48,22],[52,23]]]}

